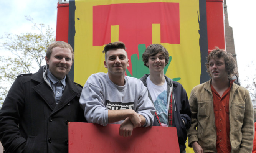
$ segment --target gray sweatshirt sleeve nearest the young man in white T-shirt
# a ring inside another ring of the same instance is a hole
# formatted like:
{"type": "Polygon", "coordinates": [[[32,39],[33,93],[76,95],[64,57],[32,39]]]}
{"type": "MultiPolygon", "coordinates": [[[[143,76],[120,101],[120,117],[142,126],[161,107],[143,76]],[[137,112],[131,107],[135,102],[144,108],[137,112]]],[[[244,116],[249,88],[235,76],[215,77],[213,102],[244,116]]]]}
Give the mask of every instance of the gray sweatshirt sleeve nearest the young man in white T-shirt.
{"type": "MultiPolygon", "coordinates": [[[[141,82],[141,84],[142,84],[142,82],[141,82]]],[[[145,123],[145,125],[143,125],[144,127],[153,125],[153,120],[154,120],[154,115],[155,115],[155,107],[148,97],[147,87],[145,87],[143,84],[142,84],[142,89],[141,89],[140,96],[138,99],[136,112],[145,117],[146,123],[145,123]]]]}

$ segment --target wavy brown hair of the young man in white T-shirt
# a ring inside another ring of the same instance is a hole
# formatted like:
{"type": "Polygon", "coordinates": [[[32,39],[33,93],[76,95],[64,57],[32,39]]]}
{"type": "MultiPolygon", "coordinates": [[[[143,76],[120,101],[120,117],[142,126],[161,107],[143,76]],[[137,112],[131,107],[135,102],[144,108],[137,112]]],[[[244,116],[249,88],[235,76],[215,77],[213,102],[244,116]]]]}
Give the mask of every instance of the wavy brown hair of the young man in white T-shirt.
{"type": "MultiPolygon", "coordinates": [[[[164,46],[161,44],[150,44],[145,52],[142,54],[142,60],[144,65],[147,66],[147,62],[149,61],[150,56],[155,56],[157,53],[162,53],[165,57],[165,65],[169,63],[169,53],[164,46]]],[[[149,66],[147,66],[149,67],[149,66]]]]}

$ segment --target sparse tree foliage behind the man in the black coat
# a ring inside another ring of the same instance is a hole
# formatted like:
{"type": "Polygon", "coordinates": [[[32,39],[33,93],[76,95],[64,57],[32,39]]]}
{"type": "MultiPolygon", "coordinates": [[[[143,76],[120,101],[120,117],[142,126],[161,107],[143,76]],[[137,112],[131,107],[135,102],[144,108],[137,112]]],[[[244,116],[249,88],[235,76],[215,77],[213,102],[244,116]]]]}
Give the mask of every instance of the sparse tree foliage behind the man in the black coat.
{"type": "MultiPolygon", "coordinates": [[[[33,19],[25,17],[33,23],[33,19]]],[[[55,31],[44,24],[38,26],[33,23],[33,28],[35,33],[5,34],[1,37],[4,41],[0,48],[10,56],[0,56],[0,107],[18,74],[36,72],[45,65],[46,49],[55,41],[55,31]]]]}

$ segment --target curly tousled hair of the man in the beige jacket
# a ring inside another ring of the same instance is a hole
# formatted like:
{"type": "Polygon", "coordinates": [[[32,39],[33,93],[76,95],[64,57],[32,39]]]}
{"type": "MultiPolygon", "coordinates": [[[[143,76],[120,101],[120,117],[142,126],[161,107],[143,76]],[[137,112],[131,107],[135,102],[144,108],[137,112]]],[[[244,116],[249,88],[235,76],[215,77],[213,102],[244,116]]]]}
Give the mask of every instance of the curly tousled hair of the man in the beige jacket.
{"type": "Polygon", "coordinates": [[[210,77],[211,77],[211,74],[209,70],[209,61],[211,59],[222,58],[222,57],[224,58],[224,61],[225,61],[225,69],[228,72],[228,77],[231,78],[232,76],[234,76],[234,74],[236,74],[236,61],[233,58],[232,54],[226,52],[225,50],[219,49],[218,47],[215,47],[215,49],[211,51],[206,57],[206,60],[207,60],[207,63],[205,63],[207,68],[206,72],[209,74],[210,77]]]}

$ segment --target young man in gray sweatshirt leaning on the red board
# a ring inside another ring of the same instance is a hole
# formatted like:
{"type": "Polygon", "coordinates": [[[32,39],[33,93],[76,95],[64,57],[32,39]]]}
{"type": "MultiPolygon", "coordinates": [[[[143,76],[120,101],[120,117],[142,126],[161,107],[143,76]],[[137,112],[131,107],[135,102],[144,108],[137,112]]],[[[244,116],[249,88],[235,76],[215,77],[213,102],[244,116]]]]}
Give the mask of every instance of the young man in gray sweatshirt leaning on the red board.
{"type": "Polygon", "coordinates": [[[139,79],[125,76],[129,59],[122,42],[109,43],[104,66],[107,73],[92,74],[82,90],[80,105],[88,122],[120,124],[119,135],[128,137],[136,127],[153,125],[155,108],[139,79]]]}

